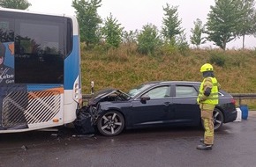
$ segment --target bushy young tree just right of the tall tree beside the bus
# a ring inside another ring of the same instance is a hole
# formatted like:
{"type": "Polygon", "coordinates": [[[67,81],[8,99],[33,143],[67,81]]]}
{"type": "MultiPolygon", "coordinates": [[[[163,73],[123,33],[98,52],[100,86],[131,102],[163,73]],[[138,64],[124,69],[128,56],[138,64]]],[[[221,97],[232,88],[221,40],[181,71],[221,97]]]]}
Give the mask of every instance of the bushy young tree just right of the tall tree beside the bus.
{"type": "Polygon", "coordinates": [[[102,35],[109,47],[119,47],[122,42],[122,33],[124,28],[117,23],[117,18],[113,18],[112,14],[107,17],[102,27],[102,35]]]}

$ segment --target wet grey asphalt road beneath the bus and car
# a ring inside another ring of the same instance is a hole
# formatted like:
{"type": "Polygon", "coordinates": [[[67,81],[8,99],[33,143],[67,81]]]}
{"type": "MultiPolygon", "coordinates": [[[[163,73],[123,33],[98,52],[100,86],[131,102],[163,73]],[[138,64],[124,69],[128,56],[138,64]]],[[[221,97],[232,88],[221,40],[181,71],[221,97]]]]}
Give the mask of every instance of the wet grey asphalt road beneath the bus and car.
{"type": "Polygon", "coordinates": [[[129,130],[116,137],[29,132],[0,134],[0,167],[254,167],[256,112],[215,132],[213,150],[197,150],[200,127],[129,130]]]}

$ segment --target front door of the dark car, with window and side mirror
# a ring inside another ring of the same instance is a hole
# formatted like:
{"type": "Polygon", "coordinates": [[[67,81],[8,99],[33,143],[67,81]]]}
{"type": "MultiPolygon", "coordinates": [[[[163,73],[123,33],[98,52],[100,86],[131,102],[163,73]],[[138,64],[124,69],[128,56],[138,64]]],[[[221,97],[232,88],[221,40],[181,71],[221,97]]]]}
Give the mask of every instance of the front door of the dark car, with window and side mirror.
{"type": "Polygon", "coordinates": [[[169,121],[169,85],[154,87],[132,101],[132,124],[135,127],[162,125],[169,121]],[[147,99],[146,99],[147,98],[147,99]]]}

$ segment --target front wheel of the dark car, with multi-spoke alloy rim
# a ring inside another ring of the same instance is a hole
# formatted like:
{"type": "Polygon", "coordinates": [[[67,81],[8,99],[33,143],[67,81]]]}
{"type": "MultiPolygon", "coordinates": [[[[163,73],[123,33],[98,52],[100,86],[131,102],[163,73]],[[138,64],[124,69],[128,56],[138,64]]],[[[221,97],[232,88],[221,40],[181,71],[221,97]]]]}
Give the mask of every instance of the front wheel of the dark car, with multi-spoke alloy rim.
{"type": "Polygon", "coordinates": [[[120,134],[124,130],[124,116],[116,111],[104,113],[97,121],[97,128],[103,135],[120,134]]]}

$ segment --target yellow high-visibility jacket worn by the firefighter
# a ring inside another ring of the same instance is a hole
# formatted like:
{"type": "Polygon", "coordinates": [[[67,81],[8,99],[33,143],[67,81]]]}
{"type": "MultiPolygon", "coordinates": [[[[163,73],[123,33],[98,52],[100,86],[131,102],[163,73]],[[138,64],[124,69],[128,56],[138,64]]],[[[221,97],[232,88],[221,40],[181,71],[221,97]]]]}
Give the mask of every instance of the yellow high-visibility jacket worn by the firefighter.
{"type": "Polygon", "coordinates": [[[201,103],[201,104],[217,105],[219,103],[218,92],[219,92],[219,89],[218,89],[217,79],[215,77],[207,77],[200,84],[200,93],[199,93],[199,96],[197,98],[197,101],[198,101],[198,103],[201,103]],[[209,78],[212,81],[212,85],[211,85],[212,90],[211,90],[210,95],[208,97],[206,97],[204,95],[204,91],[206,89],[206,88],[204,88],[204,85],[205,85],[206,80],[208,80],[209,78]],[[203,98],[203,97],[206,98],[206,99],[203,100],[203,101],[200,101],[200,99],[203,98]]]}

